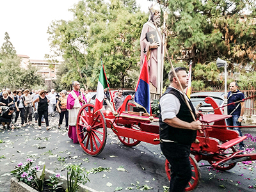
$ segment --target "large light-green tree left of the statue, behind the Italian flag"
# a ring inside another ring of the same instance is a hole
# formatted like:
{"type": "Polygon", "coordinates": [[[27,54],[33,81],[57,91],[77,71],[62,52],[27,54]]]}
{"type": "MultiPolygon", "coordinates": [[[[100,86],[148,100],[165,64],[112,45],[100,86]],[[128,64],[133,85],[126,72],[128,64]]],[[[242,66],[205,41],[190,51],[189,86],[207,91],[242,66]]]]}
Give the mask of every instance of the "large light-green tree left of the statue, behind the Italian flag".
{"type": "Polygon", "coordinates": [[[51,49],[63,54],[68,77],[95,89],[104,63],[111,88],[134,87],[129,71],[139,70],[140,32],[147,15],[134,0],[79,1],[70,11],[73,20],[52,22],[48,30],[51,49]]]}

